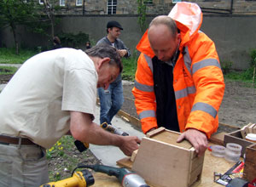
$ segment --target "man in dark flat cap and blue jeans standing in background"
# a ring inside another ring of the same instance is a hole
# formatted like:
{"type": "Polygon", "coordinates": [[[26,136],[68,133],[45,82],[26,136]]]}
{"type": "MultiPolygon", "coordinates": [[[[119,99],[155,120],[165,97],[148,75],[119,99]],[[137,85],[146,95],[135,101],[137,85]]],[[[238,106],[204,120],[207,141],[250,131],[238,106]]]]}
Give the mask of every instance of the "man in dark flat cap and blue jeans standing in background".
{"type": "MultiPolygon", "coordinates": [[[[119,22],[115,20],[108,21],[107,37],[102,37],[96,44],[107,43],[118,49],[120,57],[129,57],[131,55],[129,48],[126,48],[125,43],[119,39],[121,30],[123,30],[123,27],[119,22]]],[[[111,124],[113,116],[117,114],[124,103],[121,74],[110,83],[107,89],[98,88],[98,95],[101,104],[100,122],[111,124]]]]}

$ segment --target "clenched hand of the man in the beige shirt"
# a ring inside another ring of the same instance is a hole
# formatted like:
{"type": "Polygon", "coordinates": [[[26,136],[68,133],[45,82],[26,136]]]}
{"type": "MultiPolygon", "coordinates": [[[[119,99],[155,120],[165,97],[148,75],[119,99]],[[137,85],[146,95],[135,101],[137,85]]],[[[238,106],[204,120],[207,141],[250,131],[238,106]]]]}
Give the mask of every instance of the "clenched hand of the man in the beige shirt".
{"type": "Polygon", "coordinates": [[[119,149],[122,150],[125,156],[131,156],[133,150],[138,149],[138,144],[141,140],[137,136],[122,136],[123,143],[120,144],[119,149]]]}

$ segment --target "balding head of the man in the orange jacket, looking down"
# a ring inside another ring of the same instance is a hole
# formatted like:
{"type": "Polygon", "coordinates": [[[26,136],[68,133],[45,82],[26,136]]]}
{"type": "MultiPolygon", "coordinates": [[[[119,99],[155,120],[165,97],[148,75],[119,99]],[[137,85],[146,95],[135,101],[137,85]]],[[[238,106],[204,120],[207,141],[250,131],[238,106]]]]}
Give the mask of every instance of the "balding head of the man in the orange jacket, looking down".
{"type": "Polygon", "coordinates": [[[172,59],[181,41],[175,20],[166,15],[155,17],[148,28],[148,40],[158,59],[172,59]]]}

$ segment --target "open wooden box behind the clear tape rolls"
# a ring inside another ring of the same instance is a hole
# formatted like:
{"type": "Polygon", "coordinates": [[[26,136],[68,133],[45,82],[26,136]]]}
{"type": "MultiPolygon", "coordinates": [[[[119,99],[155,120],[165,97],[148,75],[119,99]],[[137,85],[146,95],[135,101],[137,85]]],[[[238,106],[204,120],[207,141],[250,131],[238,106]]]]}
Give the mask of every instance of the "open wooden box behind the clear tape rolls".
{"type": "Polygon", "coordinates": [[[242,139],[241,130],[225,134],[224,146],[226,146],[226,144],[228,143],[235,143],[241,145],[241,157],[243,157],[243,155],[245,154],[247,146],[253,144],[253,142],[247,141],[246,139],[242,139]]]}

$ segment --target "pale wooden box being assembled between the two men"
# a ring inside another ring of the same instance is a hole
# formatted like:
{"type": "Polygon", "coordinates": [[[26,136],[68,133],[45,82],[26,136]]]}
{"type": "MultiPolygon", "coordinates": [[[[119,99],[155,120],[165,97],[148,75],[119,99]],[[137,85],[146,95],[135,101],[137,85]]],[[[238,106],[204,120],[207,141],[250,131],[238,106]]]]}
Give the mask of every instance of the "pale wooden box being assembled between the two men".
{"type": "Polygon", "coordinates": [[[132,171],[149,185],[157,187],[190,187],[201,182],[204,156],[198,157],[194,147],[180,133],[160,127],[142,139],[132,171]]]}

